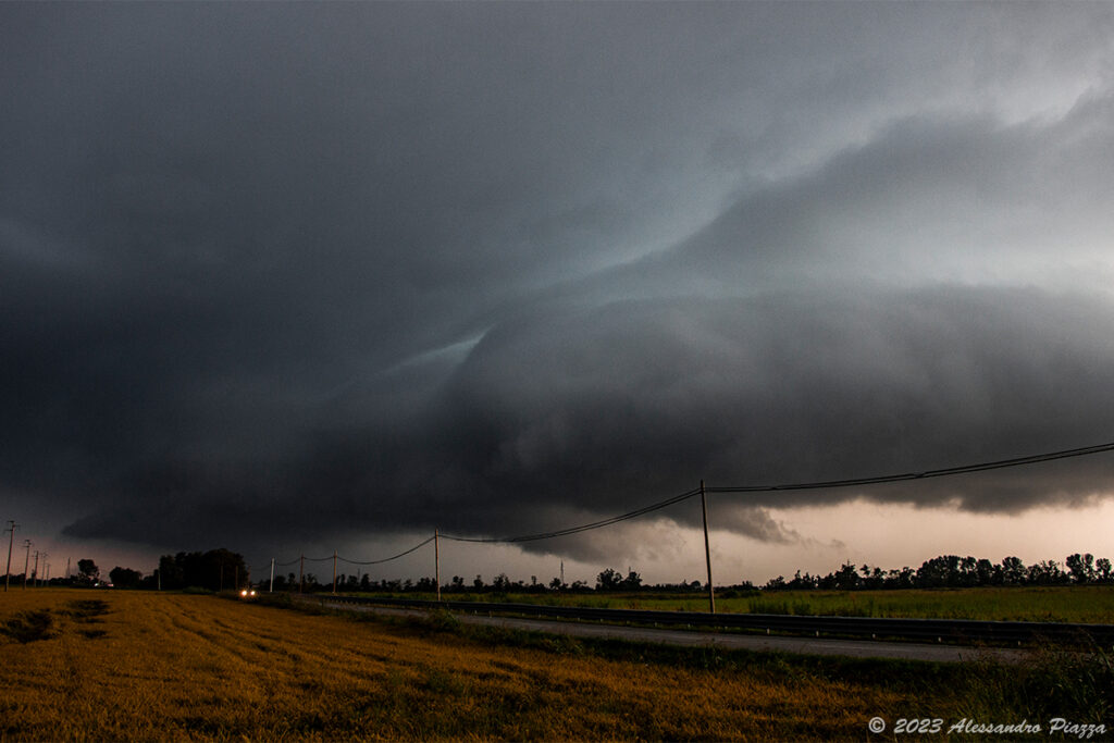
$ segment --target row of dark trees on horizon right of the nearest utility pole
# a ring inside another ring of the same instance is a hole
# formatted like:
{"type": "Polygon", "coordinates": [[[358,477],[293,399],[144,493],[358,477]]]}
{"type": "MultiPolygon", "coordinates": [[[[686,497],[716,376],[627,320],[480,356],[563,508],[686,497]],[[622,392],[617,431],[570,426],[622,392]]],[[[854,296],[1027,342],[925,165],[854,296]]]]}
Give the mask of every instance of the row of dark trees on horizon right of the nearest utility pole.
{"type": "Polygon", "coordinates": [[[916,570],[883,570],[880,567],[844,563],[825,576],[797,574],[785,579],[778,576],[763,586],[763,590],[859,590],[886,588],[969,588],[976,586],[1063,586],[1069,584],[1114,583],[1111,561],[1097,560],[1089,553],[1068,555],[1064,564],[1040,560],[1026,566],[1018,557],[1003,558],[1001,563],[988,559],[941,555],[926,560],[916,570]]]}

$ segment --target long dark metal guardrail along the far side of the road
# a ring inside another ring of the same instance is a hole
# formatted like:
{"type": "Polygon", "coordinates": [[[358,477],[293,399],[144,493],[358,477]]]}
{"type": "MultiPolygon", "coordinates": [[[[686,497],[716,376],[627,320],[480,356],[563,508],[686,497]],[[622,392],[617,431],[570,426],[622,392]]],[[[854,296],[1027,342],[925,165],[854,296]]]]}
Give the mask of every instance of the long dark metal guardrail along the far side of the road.
{"type": "Polygon", "coordinates": [[[1059,622],[985,622],[977,619],[896,619],[871,617],[801,616],[782,614],[707,614],[704,612],[647,612],[641,609],[599,609],[579,606],[504,604],[487,602],[431,602],[410,598],[369,598],[330,596],[330,602],[434,609],[470,614],[515,615],[539,618],[604,622],[610,624],[707,627],[753,632],[872,637],[877,639],[916,639],[949,643],[1057,645],[1114,645],[1114,625],[1067,624],[1059,622]]]}

